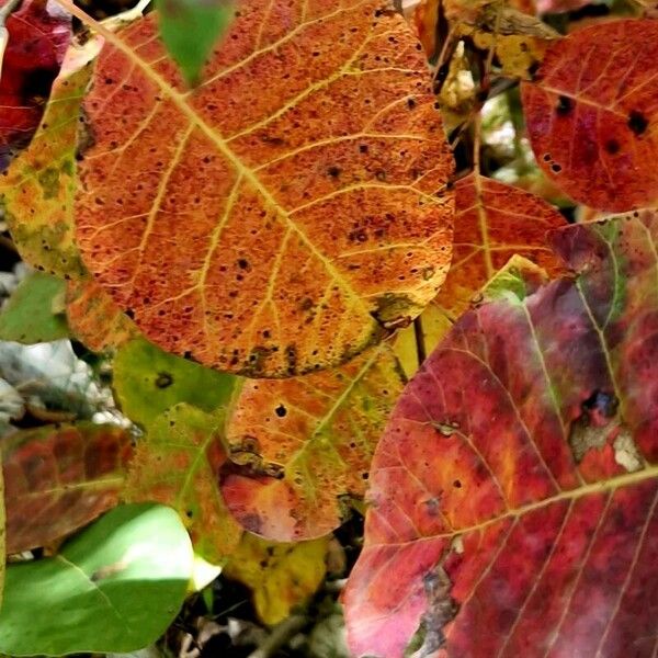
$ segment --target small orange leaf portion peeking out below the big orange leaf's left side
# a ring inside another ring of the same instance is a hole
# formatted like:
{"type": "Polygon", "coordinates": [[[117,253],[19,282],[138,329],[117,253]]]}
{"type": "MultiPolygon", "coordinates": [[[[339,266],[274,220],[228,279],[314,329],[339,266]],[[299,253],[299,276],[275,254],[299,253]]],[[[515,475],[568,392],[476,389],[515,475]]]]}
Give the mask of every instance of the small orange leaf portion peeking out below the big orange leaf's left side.
{"type": "Polygon", "coordinates": [[[139,336],[133,320],[90,276],[67,282],[66,317],[71,333],[93,352],[118,348],[139,336]]]}

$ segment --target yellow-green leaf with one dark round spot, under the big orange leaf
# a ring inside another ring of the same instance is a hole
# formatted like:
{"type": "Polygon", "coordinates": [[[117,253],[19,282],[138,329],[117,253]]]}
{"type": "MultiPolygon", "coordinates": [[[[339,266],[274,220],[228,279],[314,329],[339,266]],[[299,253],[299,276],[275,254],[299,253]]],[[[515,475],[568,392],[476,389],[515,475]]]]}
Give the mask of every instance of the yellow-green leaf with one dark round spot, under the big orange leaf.
{"type": "Polygon", "coordinates": [[[145,428],[179,402],[214,411],[228,402],[235,382],[231,375],[163,352],[143,338],[123,345],[114,360],[121,407],[145,428]]]}

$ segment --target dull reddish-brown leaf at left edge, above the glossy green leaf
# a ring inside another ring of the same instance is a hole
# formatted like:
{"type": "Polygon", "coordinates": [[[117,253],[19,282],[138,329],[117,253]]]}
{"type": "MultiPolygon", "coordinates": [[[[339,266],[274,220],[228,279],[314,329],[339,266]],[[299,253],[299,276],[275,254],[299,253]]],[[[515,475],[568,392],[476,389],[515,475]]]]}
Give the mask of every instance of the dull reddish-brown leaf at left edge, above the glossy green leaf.
{"type": "Polygon", "coordinates": [[[118,502],[131,436],[80,422],[23,430],[2,440],[7,551],[44,546],[118,502]]]}

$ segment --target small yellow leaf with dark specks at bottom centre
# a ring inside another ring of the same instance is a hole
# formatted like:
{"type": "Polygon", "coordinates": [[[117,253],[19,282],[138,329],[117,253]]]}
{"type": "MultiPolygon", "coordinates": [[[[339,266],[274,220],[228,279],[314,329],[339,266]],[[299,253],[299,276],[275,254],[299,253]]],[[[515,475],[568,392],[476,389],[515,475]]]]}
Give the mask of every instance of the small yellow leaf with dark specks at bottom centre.
{"type": "Polygon", "coordinates": [[[328,544],[329,537],[275,544],[246,533],[224,575],[253,590],[258,616],[274,625],[309,599],[322,582],[328,544]]]}

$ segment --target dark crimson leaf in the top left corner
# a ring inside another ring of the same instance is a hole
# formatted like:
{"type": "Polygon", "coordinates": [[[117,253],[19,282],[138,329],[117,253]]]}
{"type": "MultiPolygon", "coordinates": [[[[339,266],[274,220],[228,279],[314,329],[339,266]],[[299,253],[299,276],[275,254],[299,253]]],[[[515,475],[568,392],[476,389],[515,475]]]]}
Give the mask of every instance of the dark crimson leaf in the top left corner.
{"type": "MultiPolygon", "coordinates": [[[[0,0],[4,5],[5,0],[0,0]]],[[[57,3],[25,0],[7,20],[0,77],[0,170],[36,129],[70,42],[70,16],[57,3]]]]}

